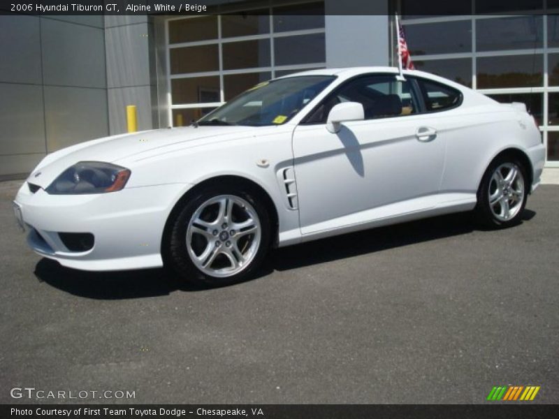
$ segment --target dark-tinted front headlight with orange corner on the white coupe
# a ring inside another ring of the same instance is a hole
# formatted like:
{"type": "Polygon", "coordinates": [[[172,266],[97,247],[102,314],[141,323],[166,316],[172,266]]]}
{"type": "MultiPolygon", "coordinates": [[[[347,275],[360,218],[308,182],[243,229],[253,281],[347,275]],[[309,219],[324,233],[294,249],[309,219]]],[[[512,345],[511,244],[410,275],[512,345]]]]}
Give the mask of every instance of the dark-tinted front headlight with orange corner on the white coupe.
{"type": "Polygon", "coordinates": [[[130,173],[129,169],[111,163],[80,161],[64,170],[45,191],[52,195],[120,191],[130,173]]]}

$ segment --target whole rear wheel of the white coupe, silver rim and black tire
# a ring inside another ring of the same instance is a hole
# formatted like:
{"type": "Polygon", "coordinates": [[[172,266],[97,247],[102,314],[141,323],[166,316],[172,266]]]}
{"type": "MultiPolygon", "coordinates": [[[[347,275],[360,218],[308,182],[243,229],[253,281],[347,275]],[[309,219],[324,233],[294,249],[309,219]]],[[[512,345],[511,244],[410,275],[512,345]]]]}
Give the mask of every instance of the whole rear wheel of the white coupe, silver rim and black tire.
{"type": "Polygon", "coordinates": [[[477,219],[491,228],[506,228],[521,221],[528,200],[523,164],[504,156],[486,170],[477,192],[477,219]]]}

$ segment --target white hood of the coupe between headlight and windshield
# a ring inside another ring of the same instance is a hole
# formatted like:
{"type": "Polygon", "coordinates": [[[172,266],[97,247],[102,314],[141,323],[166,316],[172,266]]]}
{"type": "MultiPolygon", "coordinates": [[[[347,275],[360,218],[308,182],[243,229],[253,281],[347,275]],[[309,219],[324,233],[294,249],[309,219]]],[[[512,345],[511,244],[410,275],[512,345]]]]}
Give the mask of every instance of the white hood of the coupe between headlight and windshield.
{"type": "Polygon", "coordinates": [[[105,161],[118,164],[118,161],[136,155],[140,158],[161,154],[169,147],[189,148],[246,138],[263,128],[269,127],[198,126],[195,128],[189,126],[99,138],[49,154],[29,175],[27,182],[46,188],[61,172],[79,161],[105,161]]]}

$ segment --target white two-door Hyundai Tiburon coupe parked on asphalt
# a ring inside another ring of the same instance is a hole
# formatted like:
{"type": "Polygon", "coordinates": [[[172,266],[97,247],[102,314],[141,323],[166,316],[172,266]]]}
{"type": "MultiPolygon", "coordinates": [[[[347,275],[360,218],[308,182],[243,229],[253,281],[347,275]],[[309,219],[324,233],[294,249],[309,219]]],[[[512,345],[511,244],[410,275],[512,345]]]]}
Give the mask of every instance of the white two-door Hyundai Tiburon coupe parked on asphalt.
{"type": "Polygon", "coordinates": [[[511,226],[544,161],[521,103],[421,71],[326,69],[259,84],[189,127],[52,153],[14,207],[31,248],[61,265],[165,264],[223,285],[270,247],[468,210],[511,226]]]}

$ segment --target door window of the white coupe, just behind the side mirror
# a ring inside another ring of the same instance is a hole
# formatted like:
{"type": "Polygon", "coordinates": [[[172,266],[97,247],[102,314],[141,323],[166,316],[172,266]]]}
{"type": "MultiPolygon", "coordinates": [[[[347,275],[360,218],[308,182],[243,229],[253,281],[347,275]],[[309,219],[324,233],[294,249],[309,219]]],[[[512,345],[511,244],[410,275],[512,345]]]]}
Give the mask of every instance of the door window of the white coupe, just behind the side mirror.
{"type": "Polygon", "coordinates": [[[350,80],[328,96],[305,119],[303,124],[326,124],[328,113],[343,102],[363,105],[365,119],[412,115],[419,105],[409,81],[396,80],[395,75],[371,75],[350,80]]]}

